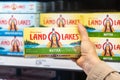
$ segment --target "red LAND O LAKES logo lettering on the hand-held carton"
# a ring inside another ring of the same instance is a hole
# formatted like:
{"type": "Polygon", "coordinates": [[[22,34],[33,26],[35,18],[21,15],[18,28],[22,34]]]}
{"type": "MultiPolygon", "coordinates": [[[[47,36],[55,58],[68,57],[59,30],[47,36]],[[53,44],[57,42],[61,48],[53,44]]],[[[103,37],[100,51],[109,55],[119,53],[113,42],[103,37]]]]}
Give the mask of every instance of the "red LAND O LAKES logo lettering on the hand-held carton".
{"type": "MultiPolygon", "coordinates": [[[[50,28],[44,28],[44,30],[49,30],[50,28]]],[[[43,31],[39,31],[39,32],[35,32],[35,31],[31,31],[30,32],[30,40],[79,40],[80,36],[79,33],[61,33],[61,29],[57,29],[56,28],[52,28],[52,31],[50,31],[48,34],[44,33],[43,31]],[[58,30],[58,31],[56,31],[58,30]]],[[[65,30],[65,28],[63,28],[63,30],[65,30]]]]}

